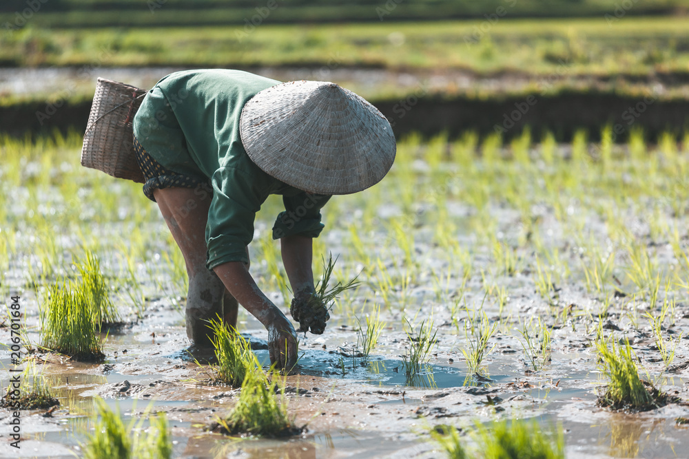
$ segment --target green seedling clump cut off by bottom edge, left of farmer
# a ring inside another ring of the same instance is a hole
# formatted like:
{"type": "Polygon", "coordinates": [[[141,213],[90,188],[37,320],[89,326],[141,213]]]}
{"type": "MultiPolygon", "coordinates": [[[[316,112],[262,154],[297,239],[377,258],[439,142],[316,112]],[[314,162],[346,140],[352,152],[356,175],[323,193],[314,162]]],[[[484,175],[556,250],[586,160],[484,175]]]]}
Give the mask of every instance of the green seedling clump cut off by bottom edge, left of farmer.
{"type": "Polygon", "coordinates": [[[102,398],[96,398],[95,403],[99,420],[94,432],[81,445],[86,459],[172,458],[172,438],[165,413],[150,416],[150,427],[144,431],[144,417],[138,421],[132,418],[125,425],[119,409],[112,412],[102,398]]]}

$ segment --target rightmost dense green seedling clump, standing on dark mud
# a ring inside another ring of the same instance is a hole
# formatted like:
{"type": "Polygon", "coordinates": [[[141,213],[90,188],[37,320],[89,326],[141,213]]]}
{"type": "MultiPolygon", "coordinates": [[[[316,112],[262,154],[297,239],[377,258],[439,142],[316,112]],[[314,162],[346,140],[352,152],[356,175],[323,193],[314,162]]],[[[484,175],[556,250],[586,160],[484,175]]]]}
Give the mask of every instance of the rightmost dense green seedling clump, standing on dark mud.
{"type": "MultiPolygon", "coordinates": [[[[599,366],[608,379],[605,392],[599,394],[598,404],[612,409],[650,409],[655,407],[654,397],[639,378],[639,368],[629,343],[615,345],[610,339],[597,341],[599,366]]],[[[651,386],[652,387],[652,386],[651,386]]]]}

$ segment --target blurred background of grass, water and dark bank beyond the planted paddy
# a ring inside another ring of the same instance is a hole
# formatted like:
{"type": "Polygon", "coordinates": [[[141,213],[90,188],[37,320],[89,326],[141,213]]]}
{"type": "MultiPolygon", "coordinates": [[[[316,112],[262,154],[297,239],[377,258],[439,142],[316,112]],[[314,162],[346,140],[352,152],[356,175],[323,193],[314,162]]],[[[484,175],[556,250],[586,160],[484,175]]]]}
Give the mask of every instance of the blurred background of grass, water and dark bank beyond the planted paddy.
{"type": "Polygon", "coordinates": [[[336,81],[400,135],[491,134],[535,96],[506,137],[529,125],[568,141],[607,123],[624,126],[620,140],[631,125],[657,137],[688,122],[688,10],[688,0],[6,1],[0,131],[85,129],[98,76],[151,87],[174,70],[221,67],[336,81]],[[644,116],[621,119],[645,97],[644,116]]]}

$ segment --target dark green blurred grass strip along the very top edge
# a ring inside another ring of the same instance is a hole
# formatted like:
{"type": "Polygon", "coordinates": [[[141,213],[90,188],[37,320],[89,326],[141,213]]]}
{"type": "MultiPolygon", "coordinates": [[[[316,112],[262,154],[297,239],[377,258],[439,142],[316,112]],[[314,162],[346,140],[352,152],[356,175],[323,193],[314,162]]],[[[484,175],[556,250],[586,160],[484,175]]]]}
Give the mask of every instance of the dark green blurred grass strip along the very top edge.
{"type": "MultiPolygon", "coordinates": [[[[28,15],[38,27],[72,28],[93,26],[169,26],[243,24],[260,8],[261,21],[304,23],[321,21],[433,20],[480,18],[504,8],[511,17],[591,17],[613,14],[617,0],[51,0],[41,2],[28,15]]],[[[4,0],[0,24],[14,24],[16,12],[31,8],[25,0],[4,0]]],[[[687,0],[646,0],[633,8],[620,8],[626,16],[669,14],[689,7],[687,0]]],[[[21,23],[21,20],[19,21],[21,23]]]]}

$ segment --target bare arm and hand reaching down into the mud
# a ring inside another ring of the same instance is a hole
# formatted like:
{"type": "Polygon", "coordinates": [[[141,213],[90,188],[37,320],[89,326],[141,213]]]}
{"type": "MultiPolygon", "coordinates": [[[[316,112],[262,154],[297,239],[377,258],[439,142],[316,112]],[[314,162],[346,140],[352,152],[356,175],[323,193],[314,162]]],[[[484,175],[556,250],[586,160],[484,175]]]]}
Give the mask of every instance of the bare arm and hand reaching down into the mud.
{"type": "Polygon", "coordinates": [[[213,270],[232,296],[268,330],[271,363],[291,370],[297,361],[297,341],[294,327],[285,314],[261,292],[241,261],[230,261],[213,270]]]}

